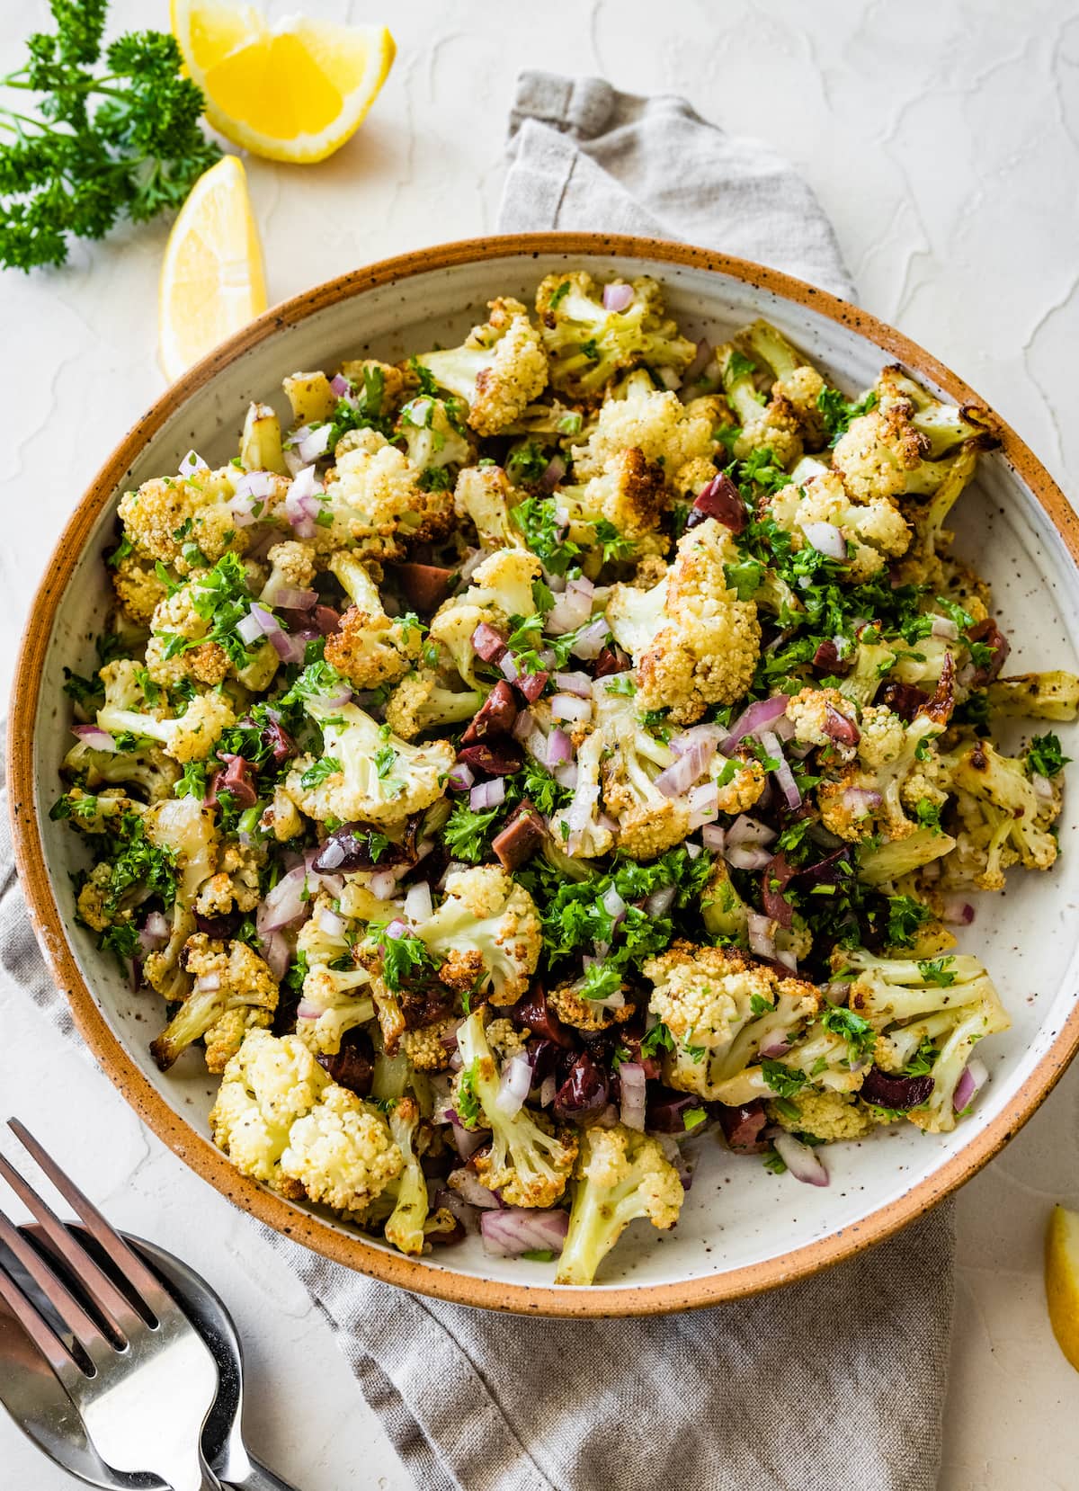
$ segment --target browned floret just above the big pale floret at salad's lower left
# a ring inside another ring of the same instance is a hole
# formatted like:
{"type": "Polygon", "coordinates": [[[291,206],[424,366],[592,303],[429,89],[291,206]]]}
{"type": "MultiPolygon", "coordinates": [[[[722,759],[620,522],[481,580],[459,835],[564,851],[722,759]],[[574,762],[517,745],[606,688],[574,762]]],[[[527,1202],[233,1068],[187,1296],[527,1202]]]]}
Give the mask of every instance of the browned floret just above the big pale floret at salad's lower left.
{"type": "Polygon", "coordinates": [[[180,968],[191,992],[161,1035],[151,1042],[162,1072],[203,1038],[206,1066],[224,1072],[247,1030],[265,1027],[277,1008],[277,980],[246,942],[218,942],[195,932],[183,945],[180,968]]]}

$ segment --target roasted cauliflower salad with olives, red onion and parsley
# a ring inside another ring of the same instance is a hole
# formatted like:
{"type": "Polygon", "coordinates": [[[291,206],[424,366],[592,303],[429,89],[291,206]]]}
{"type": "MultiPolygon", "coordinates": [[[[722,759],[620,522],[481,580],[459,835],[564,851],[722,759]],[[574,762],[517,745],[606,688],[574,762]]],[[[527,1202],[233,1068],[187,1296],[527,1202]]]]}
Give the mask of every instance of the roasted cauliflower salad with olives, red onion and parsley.
{"type": "Polygon", "coordinates": [[[951,553],[991,416],[584,271],[283,389],[124,495],[52,808],[232,1163],[587,1285],[706,1150],[954,1129],[1079,707],[951,553]]]}

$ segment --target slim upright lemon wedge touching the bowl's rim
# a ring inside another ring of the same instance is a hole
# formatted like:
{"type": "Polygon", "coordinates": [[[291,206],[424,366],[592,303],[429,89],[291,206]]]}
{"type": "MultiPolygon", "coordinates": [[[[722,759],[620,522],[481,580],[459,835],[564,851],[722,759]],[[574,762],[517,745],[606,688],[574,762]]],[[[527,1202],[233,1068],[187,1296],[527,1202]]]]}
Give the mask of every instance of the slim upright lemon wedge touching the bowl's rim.
{"type": "Polygon", "coordinates": [[[262,245],[235,155],[204,171],[180,209],[161,267],[158,346],[165,377],[265,310],[262,245]]]}

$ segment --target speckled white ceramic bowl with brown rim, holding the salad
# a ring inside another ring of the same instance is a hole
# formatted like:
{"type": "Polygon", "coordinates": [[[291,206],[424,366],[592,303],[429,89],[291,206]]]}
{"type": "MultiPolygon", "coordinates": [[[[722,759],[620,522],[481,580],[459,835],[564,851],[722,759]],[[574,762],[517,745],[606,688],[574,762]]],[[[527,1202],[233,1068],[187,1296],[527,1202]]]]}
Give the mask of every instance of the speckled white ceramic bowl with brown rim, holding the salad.
{"type": "MultiPolygon", "coordinates": [[[[1030,1117],[1079,1041],[1076,939],[1079,856],[1051,877],[1019,875],[982,908],[966,944],[990,965],[1012,1014],[987,1042],[993,1081],[951,1135],[911,1126],[829,1151],[826,1190],[772,1176],[760,1163],[705,1138],[694,1185],[672,1233],[630,1229],[590,1290],[557,1288],[553,1266],[495,1261],[478,1241],[419,1261],[313,1209],[289,1205],[238,1175],[207,1138],[215,1082],[188,1053],[162,1077],[148,1051],[162,1009],[133,994],[113,962],[75,924],[70,871],[80,845],[51,823],[57,766],[67,743],[63,668],[92,662],[92,637],[109,605],[101,550],[119,495],[176,471],[192,446],[228,459],[247,403],[280,403],[280,379],[374,353],[393,361],[455,338],[496,294],[531,300],[559,268],[650,273],[690,334],[717,337],[763,315],[847,391],[891,361],[957,403],[976,395],[921,347],[864,312],[773,270],[644,239],[537,234],[411,253],[332,280],[268,312],[192,368],[125,435],[79,504],[49,564],[22,643],[10,714],[10,798],[19,871],[31,915],[75,1020],[131,1105],[188,1164],[240,1206],[340,1263],[411,1290],[541,1315],[636,1315],[733,1299],[788,1282],[887,1238],[954,1190],[1030,1117]]],[[[1079,526],[1022,441],[1003,429],[961,502],[957,547],[993,581],[997,610],[1022,668],[1076,668],[1079,526]]],[[[1079,756],[1075,747],[1070,751],[1079,756]]],[[[1066,801],[1061,838],[1073,842],[1079,792],[1066,801]]],[[[988,902],[988,898],[987,898],[988,902]]]]}

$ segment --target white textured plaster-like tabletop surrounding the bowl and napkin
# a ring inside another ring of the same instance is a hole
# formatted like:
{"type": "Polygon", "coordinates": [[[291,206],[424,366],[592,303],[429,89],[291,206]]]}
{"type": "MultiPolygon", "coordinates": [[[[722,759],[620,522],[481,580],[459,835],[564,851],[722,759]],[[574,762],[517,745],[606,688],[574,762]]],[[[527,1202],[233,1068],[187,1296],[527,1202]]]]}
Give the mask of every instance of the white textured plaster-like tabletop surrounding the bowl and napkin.
{"type": "MultiPolygon", "coordinates": [[[[359,0],[308,3],[337,18],[386,15],[359,0]]],[[[3,7],[0,72],[42,10],[3,7]]],[[[119,0],[115,12],[119,22],[164,24],[165,6],[119,0]]],[[[863,303],[966,376],[1069,489],[1079,432],[1055,388],[1070,389],[1079,334],[1079,16],[1069,0],[1027,0],[1021,12],[1002,0],[900,9],[668,0],[662,31],[656,16],[642,0],[401,7],[389,16],[398,63],[361,136],[314,170],[250,166],[271,298],[487,231],[517,67],[604,72],[620,86],[684,92],[791,155],[836,224],[863,303]]],[[[79,249],[67,271],[0,277],[9,428],[0,480],[7,511],[25,514],[0,549],[3,689],[60,525],[161,388],[164,236],[121,234],[79,249]]],[[[118,1223],[165,1242],[227,1297],[247,1342],[252,1440],[267,1460],[301,1491],[404,1491],[326,1325],[283,1264],[7,993],[0,1093],[118,1223]]],[[[1079,1202],[1078,1136],[1079,1071],[960,1199],[942,1491],[1075,1485],[1079,1378],[1045,1318],[1040,1238],[1052,1200],[1079,1202]]],[[[72,1484],[6,1421],[0,1464],[12,1491],[72,1484]]]]}

